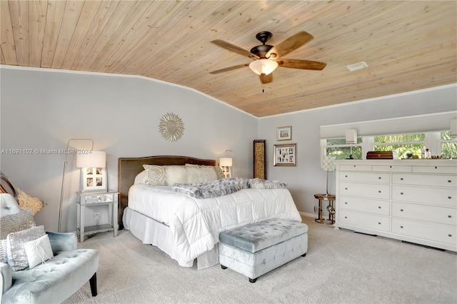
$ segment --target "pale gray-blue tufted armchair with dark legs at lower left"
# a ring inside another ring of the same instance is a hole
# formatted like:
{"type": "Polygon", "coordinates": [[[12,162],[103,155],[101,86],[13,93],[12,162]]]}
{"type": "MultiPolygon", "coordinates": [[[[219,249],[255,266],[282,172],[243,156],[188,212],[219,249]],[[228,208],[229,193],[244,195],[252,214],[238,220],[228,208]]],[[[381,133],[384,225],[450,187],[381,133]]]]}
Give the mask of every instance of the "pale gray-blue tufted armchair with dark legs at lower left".
{"type": "MultiPolygon", "coordinates": [[[[13,196],[0,193],[0,221],[21,212],[13,196]]],[[[3,224],[3,223],[2,223],[3,224]]],[[[46,232],[54,256],[33,268],[16,270],[0,261],[1,303],[61,303],[88,280],[96,296],[99,251],[77,249],[74,233],[46,232]]],[[[2,240],[3,241],[3,240],[2,240]]],[[[1,243],[0,246],[5,246],[1,243]]],[[[11,253],[11,248],[9,249],[11,253]]]]}

